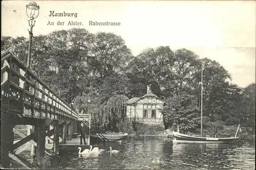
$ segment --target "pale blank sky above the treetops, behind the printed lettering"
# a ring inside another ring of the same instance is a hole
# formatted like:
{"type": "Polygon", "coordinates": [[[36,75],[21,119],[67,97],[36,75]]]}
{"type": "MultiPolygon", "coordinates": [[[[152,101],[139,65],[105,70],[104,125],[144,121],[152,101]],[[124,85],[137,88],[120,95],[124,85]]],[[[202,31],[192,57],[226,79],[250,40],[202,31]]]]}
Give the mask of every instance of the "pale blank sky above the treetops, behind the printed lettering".
{"type": "MultiPolygon", "coordinates": [[[[2,1],[2,36],[28,37],[26,5],[2,1]]],[[[39,16],[33,34],[84,28],[91,33],[120,35],[133,55],[148,47],[187,48],[201,58],[219,62],[239,87],[255,83],[256,3],[254,1],[35,1],[39,16]],[[77,13],[77,17],[49,16],[77,13]],[[54,25],[48,25],[48,22],[54,25]],[[58,26],[58,21],[64,21],[58,26]],[[69,21],[82,22],[68,26],[69,21]],[[120,22],[90,26],[89,21],[120,22]]]]}

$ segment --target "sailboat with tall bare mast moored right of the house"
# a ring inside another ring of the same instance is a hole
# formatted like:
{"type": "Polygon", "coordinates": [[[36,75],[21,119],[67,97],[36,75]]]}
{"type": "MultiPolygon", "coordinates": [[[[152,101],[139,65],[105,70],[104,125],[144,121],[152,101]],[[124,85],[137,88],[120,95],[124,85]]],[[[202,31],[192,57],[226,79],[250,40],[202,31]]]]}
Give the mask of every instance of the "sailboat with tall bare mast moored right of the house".
{"type": "Polygon", "coordinates": [[[201,137],[197,136],[189,136],[182,133],[179,133],[179,125],[178,132],[173,131],[173,142],[174,143],[224,143],[231,142],[233,140],[239,139],[237,137],[238,131],[240,129],[240,124],[237,129],[236,136],[234,137],[203,137],[203,63],[201,70],[201,137]]]}

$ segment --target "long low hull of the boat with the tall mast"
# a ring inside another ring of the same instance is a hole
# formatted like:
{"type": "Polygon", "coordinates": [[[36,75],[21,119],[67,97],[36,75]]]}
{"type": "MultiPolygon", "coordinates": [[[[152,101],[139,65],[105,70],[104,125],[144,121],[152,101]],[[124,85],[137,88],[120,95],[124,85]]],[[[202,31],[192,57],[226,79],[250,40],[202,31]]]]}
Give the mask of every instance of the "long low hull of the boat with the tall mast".
{"type": "Polygon", "coordinates": [[[231,142],[239,139],[239,137],[197,137],[197,136],[188,136],[181,133],[173,132],[173,142],[174,143],[224,143],[231,142]]]}

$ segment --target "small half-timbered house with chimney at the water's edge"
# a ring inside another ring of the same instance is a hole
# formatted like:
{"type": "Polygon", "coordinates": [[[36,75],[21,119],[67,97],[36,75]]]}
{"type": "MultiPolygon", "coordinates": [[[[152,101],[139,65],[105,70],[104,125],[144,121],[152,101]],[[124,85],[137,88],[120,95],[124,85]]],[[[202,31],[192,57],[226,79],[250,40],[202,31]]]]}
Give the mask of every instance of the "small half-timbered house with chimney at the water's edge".
{"type": "Polygon", "coordinates": [[[145,95],[127,101],[126,115],[131,123],[163,124],[162,108],[163,101],[147,86],[145,95]]]}

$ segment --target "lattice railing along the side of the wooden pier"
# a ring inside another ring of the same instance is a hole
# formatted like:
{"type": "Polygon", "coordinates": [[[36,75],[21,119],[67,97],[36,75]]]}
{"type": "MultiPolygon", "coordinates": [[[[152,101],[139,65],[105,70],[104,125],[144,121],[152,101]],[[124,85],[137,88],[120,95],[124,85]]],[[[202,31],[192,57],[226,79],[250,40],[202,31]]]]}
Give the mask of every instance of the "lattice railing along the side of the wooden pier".
{"type": "Polygon", "coordinates": [[[1,112],[78,120],[78,113],[9,51],[1,54],[1,112]]]}

